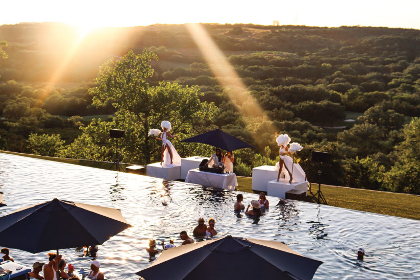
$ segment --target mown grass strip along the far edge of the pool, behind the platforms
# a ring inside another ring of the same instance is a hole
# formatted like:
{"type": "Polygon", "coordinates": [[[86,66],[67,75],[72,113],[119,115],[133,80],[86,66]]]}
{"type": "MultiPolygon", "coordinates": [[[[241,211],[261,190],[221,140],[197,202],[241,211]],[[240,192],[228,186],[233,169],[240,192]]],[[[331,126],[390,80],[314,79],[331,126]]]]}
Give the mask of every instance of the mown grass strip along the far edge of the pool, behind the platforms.
{"type": "MultiPolygon", "coordinates": [[[[111,165],[111,163],[107,161],[48,157],[32,154],[20,154],[7,151],[0,152],[101,169],[108,169],[111,165]]],[[[127,164],[121,165],[123,167],[128,166],[127,164]]],[[[237,179],[238,191],[256,193],[252,190],[251,177],[237,177],[237,179]]],[[[313,190],[316,190],[317,185],[313,185],[312,188],[313,190]]],[[[328,185],[323,185],[322,191],[324,193],[325,198],[327,199],[328,204],[331,206],[420,220],[420,196],[377,192],[328,185]]],[[[316,201],[313,200],[311,202],[316,201]]]]}

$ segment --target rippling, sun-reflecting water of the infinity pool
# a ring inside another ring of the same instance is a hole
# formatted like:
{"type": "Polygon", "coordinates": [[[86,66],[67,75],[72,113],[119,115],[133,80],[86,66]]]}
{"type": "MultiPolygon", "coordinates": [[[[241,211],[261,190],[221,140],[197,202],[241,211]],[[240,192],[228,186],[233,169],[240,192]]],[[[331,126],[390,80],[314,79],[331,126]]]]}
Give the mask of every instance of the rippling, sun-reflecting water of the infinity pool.
{"type": "MultiPolygon", "coordinates": [[[[323,261],[315,279],[420,278],[420,221],[416,220],[299,201],[277,206],[275,197],[267,197],[268,211],[253,219],[233,212],[240,192],[2,153],[0,191],[9,205],[0,208],[0,216],[53,198],[120,208],[133,227],[100,246],[98,260],[107,279],[138,279],[134,273],[150,265],[145,251],[149,238],[165,243],[174,238],[178,246],[179,232],[192,235],[200,217],[216,219],[218,237],[281,241],[323,261]],[[366,251],[364,261],[356,259],[359,247],[366,251]]],[[[245,205],[258,198],[242,194],[245,205]]],[[[46,253],[11,249],[15,261],[27,266],[45,262],[46,253]]],[[[91,258],[75,249],[60,253],[76,270],[89,271],[91,258]]]]}

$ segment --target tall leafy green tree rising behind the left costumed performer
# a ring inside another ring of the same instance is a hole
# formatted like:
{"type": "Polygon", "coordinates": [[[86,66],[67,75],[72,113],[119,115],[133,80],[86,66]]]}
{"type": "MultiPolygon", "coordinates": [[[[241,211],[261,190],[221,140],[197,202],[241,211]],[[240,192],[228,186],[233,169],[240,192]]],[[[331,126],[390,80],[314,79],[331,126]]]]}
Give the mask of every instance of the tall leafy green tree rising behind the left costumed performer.
{"type": "Polygon", "coordinates": [[[149,129],[159,128],[161,121],[168,120],[172,132],[189,134],[193,125],[217,113],[213,103],[200,102],[198,87],[165,82],[151,86],[147,79],[153,76],[153,59],[157,56],[145,50],[139,55],[130,51],[118,60],[111,59],[101,66],[96,86],[89,89],[95,106],[111,101],[117,110],[114,128],[125,129],[127,134],[123,155],[145,164],[157,150],[147,137],[149,129]]]}

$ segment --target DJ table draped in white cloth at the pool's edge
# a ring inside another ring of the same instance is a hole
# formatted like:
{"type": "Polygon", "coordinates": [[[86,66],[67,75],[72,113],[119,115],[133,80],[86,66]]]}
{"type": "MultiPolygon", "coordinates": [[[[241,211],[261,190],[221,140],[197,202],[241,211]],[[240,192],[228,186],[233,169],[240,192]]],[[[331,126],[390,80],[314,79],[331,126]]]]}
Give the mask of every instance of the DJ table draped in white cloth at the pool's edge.
{"type": "Polygon", "coordinates": [[[235,190],[235,186],[238,185],[235,173],[217,174],[198,169],[189,170],[185,182],[225,190],[235,190]]]}

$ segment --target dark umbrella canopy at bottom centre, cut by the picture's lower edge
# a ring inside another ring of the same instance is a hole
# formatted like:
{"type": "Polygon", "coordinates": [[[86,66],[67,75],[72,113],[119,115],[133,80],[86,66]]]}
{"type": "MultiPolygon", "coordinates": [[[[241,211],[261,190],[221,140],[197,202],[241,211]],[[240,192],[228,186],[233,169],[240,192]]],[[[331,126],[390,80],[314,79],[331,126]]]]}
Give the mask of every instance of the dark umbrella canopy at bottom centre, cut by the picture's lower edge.
{"type": "Polygon", "coordinates": [[[164,250],[136,274],[146,280],[312,279],[322,263],[284,243],[227,236],[164,250]]]}

